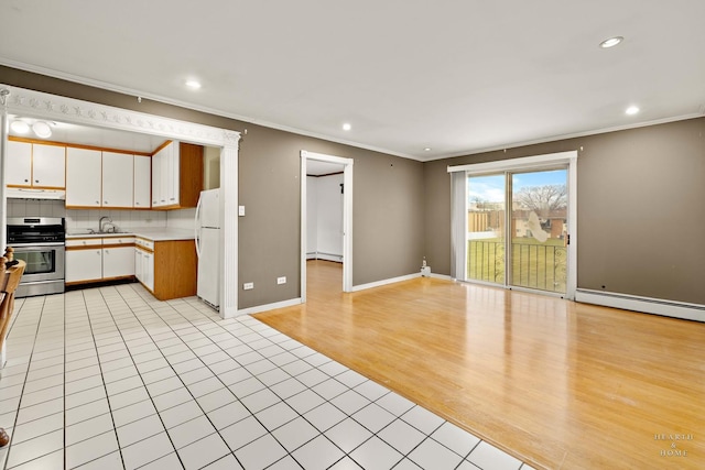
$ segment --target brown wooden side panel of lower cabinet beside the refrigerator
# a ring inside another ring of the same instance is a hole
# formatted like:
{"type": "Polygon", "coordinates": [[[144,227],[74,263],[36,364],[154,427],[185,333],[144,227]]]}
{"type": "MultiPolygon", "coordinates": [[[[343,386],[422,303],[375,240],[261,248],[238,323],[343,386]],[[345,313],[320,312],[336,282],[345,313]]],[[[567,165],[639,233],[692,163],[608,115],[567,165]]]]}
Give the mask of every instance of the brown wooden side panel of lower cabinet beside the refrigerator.
{"type": "Polygon", "coordinates": [[[196,295],[197,270],[193,240],[154,243],[154,296],[160,300],[196,295]]]}

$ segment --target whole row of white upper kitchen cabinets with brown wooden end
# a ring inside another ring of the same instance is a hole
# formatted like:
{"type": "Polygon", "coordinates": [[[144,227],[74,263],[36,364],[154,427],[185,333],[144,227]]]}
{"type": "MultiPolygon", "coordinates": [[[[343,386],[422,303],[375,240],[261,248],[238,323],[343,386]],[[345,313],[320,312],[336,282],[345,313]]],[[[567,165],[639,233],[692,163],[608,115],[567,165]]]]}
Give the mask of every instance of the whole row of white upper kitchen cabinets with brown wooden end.
{"type": "Polygon", "coordinates": [[[204,147],[176,141],[150,156],[9,140],[8,156],[8,186],[66,188],[69,209],[196,207],[204,184],[204,147]]]}

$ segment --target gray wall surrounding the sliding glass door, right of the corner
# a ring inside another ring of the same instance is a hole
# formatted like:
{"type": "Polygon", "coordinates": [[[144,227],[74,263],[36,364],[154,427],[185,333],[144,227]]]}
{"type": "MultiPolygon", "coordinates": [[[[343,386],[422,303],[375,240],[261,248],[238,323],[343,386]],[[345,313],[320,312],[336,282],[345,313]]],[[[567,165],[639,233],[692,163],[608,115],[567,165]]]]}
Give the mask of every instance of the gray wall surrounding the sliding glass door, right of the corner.
{"type": "Polygon", "coordinates": [[[581,147],[578,288],[705,304],[705,118],[425,163],[433,271],[451,272],[447,165],[581,147]]]}

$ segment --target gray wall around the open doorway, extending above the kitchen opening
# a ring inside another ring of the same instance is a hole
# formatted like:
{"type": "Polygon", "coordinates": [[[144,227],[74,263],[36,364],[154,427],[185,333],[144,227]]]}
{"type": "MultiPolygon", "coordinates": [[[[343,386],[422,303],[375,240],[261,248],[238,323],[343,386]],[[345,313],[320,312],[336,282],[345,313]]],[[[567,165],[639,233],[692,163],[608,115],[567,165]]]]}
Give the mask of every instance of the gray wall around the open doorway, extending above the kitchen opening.
{"type": "Polygon", "coordinates": [[[423,256],[423,164],[349,145],[0,66],[0,83],[243,131],[240,145],[239,308],[288,300],[300,286],[300,151],[354,159],[352,284],[417,272],[423,256]],[[276,285],[276,277],[288,283],[276,285]]]}

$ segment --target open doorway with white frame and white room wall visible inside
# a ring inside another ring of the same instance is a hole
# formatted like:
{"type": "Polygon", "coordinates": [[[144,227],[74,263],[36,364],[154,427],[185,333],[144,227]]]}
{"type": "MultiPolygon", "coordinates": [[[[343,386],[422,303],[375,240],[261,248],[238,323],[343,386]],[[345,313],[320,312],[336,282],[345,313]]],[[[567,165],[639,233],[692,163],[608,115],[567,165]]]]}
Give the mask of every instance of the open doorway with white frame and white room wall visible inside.
{"type": "Polygon", "coordinates": [[[343,262],[341,289],[352,291],[352,159],[301,151],[302,303],[306,302],[306,261],[310,258],[343,262]],[[321,184],[316,181],[310,188],[310,173],[314,179],[321,179],[321,184]],[[319,214],[317,208],[308,206],[308,195],[316,189],[326,192],[326,199],[319,208],[327,220],[323,229],[314,234],[311,232],[316,228],[310,222],[319,214]],[[310,250],[312,240],[316,242],[315,250],[310,250]]]}

